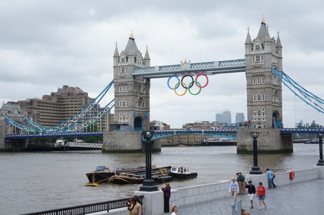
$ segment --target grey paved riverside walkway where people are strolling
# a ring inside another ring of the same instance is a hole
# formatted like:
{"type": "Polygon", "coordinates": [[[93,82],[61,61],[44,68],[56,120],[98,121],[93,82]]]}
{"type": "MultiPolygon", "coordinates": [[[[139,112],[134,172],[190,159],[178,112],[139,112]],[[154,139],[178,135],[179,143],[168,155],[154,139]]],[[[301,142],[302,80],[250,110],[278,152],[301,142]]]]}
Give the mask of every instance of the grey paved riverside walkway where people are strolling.
{"type": "MultiPolygon", "coordinates": [[[[267,190],[267,198],[265,199],[267,204],[266,210],[264,210],[263,204],[262,210],[258,210],[259,201],[256,197],[254,197],[253,209],[250,209],[251,205],[247,194],[238,195],[238,199],[242,199],[242,208],[246,209],[251,214],[323,215],[324,180],[316,179],[309,182],[296,183],[267,190]]],[[[230,205],[231,198],[228,194],[226,198],[180,207],[178,208],[177,215],[230,215],[232,214],[230,205]]]]}

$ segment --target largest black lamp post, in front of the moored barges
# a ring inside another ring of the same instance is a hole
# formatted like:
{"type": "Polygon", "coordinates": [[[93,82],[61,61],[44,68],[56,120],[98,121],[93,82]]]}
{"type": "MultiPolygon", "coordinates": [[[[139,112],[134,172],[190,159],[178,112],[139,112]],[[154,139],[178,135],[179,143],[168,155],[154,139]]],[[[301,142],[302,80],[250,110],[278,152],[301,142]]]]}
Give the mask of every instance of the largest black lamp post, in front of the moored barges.
{"type": "Polygon", "coordinates": [[[154,184],[154,180],[152,179],[152,158],[151,158],[151,144],[150,140],[153,137],[153,131],[143,131],[142,136],[146,140],[146,157],[145,157],[145,168],[146,168],[146,177],[143,181],[143,185],[140,187],[140,191],[157,191],[157,186],[154,184]]]}

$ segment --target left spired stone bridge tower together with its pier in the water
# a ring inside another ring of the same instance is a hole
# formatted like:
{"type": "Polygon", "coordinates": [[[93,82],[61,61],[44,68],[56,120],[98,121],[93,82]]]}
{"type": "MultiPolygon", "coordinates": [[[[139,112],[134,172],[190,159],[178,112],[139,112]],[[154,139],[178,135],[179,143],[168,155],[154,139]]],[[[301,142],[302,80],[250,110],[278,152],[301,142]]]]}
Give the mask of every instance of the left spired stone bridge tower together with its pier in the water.
{"type": "MultiPolygon", "coordinates": [[[[150,127],[150,79],[134,77],[135,67],[149,67],[150,56],[146,46],[144,58],[138,50],[133,33],[125,50],[119,54],[117,43],[113,55],[114,122],[103,135],[102,152],[143,151],[141,131],[150,127]]],[[[154,145],[160,150],[160,145],[154,145]]]]}

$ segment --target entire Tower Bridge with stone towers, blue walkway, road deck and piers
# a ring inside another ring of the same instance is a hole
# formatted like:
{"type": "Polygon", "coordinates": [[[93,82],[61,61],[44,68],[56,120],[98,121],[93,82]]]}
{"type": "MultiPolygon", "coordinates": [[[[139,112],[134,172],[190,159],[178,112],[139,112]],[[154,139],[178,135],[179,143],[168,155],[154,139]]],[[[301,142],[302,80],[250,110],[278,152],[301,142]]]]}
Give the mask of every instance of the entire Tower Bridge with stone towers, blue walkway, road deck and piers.
{"type": "MultiPolygon", "coordinates": [[[[251,122],[250,128],[238,128],[231,131],[207,130],[169,130],[156,131],[152,140],[153,149],[160,150],[158,139],[181,134],[196,133],[226,136],[237,139],[237,153],[248,153],[252,149],[251,132],[259,132],[258,149],[265,153],[293,151],[293,133],[318,133],[322,130],[296,130],[284,128],[282,123],[282,83],[298,97],[310,104],[316,110],[324,111],[324,100],[306,91],[282,71],[282,45],[279,38],[270,37],[265,20],[262,19],[259,32],[255,39],[251,39],[250,31],[245,41],[245,59],[191,63],[184,61],[176,65],[150,66],[148,47],[144,58],[137,48],[133,34],[130,34],[126,48],[120,53],[115,47],[113,54],[113,81],[104,90],[104,94],[113,85],[114,98],[109,106],[89,121],[84,120],[88,109],[94,107],[102,98],[98,96],[96,103],[88,105],[79,115],[51,128],[27,121],[31,126],[24,126],[7,119],[23,131],[42,133],[44,130],[54,134],[83,131],[85,126],[95,123],[104,116],[107,110],[114,107],[114,120],[110,123],[111,131],[100,133],[103,135],[102,152],[137,152],[143,151],[141,131],[149,130],[150,121],[150,79],[176,77],[186,75],[214,75],[220,73],[245,72],[247,80],[247,113],[251,122]],[[302,96],[301,96],[302,95],[302,96]],[[86,122],[85,122],[86,121],[86,122]],[[42,132],[40,131],[42,130],[42,132]]],[[[207,77],[208,78],[208,77],[207,77]]],[[[192,84],[193,84],[192,80],[192,84]]],[[[169,85],[169,84],[168,84],[169,85]]],[[[190,84],[189,84],[190,85],[190,84]]],[[[190,88],[188,85],[188,88],[190,88]]],[[[173,86],[172,86],[173,87],[173,86]]],[[[186,87],[186,86],[185,86],[186,87]]],[[[197,85],[198,88],[203,86],[197,85]]],[[[204,86],[205,87],[205,86],[204,86]]],[[[169,88],[170,85],[169,85],[169,88]]],[[[173,88],[173,89],[174,89],[173,88]]],[[[181,95],[179,95],[181,96],[181,95]]],[[[4,127],[4,126],[3,126],[4,127]]],[[[1,131],[1,124],[0,124],[1,131]]],[[[92,134],[91,134],[92,135],[92,134]]],[[[10,139],[13,136],[7,136],[10,139]]],[[[1,146],[1,143],[0,143],[1,146]]]]}

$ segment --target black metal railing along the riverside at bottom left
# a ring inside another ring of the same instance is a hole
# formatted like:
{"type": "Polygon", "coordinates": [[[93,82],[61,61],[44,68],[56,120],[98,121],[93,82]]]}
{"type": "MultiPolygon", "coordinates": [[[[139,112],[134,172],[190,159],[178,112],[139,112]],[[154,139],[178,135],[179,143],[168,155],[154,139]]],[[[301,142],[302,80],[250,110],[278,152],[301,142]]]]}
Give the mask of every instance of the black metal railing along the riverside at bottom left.
{"type": "MultiPolygon", "coordinates": [[[[98,202],[93,204],[84,204],[79,206],[73,206],[73,207],[64,207],[54,210],[45,210],[41,212],[34,212],[34,213],[24,213],[21,215],[85,215],[88,213],[94,213],[94,212],[100,212],[100,211],[107,211],[122,207],[127,207],[126,200],[130,199],[124,198],[124,199],[117,199],[113,201],[104,201],[104,202],[98,202]]],[[[140,199],[140,202],[142,204],[144,196],[138,196],[140,199]]]]}

